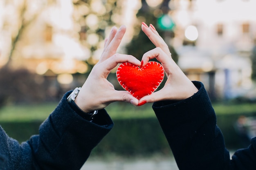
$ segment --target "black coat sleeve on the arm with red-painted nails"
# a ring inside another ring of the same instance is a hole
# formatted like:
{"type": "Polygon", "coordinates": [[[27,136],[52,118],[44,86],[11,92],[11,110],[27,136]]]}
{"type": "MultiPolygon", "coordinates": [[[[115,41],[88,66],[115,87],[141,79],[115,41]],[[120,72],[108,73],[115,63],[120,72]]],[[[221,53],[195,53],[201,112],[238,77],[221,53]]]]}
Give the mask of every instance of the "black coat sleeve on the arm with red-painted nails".
{"type": "Polygon", "coordinates": [[[180,170],[255,170],[256,139],[230,160],[216,115],[201,82],[197,93],[182,101],[161,101],[153,110],[180,170]]]}

